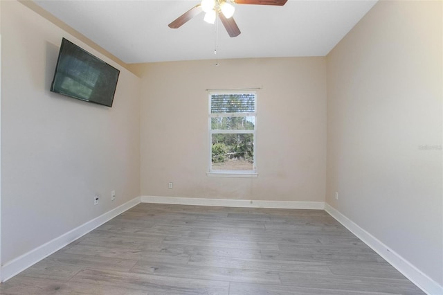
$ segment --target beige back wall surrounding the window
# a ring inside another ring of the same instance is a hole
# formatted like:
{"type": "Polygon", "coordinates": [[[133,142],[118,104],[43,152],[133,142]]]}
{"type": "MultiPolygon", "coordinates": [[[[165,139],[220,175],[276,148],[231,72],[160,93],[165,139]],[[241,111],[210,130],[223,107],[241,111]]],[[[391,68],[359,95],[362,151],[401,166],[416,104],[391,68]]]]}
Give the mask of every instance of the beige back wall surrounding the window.
{"type": "Polygon", "coordinates": [[[323,202],[325,57],[165,62],[141,73],[141,195],[323,202]],[[257,178],[207,177],[208,92],[257,91],[257,178]],[[168,189],[168,181],[174,189],[168,189]]]}

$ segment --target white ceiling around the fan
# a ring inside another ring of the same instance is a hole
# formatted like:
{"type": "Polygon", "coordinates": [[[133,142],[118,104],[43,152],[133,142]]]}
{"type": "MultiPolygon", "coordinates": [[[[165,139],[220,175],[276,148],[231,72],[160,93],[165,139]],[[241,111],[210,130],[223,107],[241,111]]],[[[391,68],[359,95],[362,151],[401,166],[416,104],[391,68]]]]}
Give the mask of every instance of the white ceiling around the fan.
{"type": "Polygon", "coordinates": [[[242,57],[325,56],[377,0],[289,0],[284,6],[235,4],[242,33],[201,13],[180,28],[168,24],[192,0],[35,0],[39,6],[126,63],[242,57]],[[214,49],[217,46],[217,55],[214,49]]]}

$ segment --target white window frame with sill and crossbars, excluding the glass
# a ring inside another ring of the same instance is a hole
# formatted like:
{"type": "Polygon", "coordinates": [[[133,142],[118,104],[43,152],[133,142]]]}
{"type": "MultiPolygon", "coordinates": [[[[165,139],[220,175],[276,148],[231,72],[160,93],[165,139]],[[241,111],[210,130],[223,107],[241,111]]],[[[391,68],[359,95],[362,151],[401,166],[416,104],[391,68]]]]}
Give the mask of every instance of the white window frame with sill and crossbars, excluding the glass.
{"type": "Polygon", "coordinates": [[[253,89],[241,90],[211,90],[208,91],[208,177],[257,177],[257,91],[253,89]],[[215,94],[246,94],[254,95],[254,112],[252,113],[211,113],[212,96],[215,94]],[[254,117],[253,130],[241,129],[212,129],[212,118],[222,117],[254,117]],[[213,134],[253,134],[253,169],[252,170],[222,170],[213,169],[213,134]]]}

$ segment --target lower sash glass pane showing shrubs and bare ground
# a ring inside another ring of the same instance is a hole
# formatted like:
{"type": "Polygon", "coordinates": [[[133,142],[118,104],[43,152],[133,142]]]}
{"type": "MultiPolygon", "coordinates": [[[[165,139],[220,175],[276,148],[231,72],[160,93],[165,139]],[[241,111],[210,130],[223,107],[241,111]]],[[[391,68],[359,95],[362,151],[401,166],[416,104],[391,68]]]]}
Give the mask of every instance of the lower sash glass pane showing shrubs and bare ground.
{"type": "Polygon", "coordinates": [[[253,134],[212,134],[214,170],[253,170],[253,134]]]}

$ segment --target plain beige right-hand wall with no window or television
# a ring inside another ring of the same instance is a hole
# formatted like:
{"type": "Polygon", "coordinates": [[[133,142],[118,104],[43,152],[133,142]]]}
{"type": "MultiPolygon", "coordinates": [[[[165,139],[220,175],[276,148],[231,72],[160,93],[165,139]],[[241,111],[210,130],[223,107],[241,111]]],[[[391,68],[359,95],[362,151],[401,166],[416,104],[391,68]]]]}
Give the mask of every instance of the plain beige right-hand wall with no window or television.
{"type": "Polygon", "coordinates": [[[326,201],[440,285],[442,27],[381,1],[327,55],[326,201]]]}

